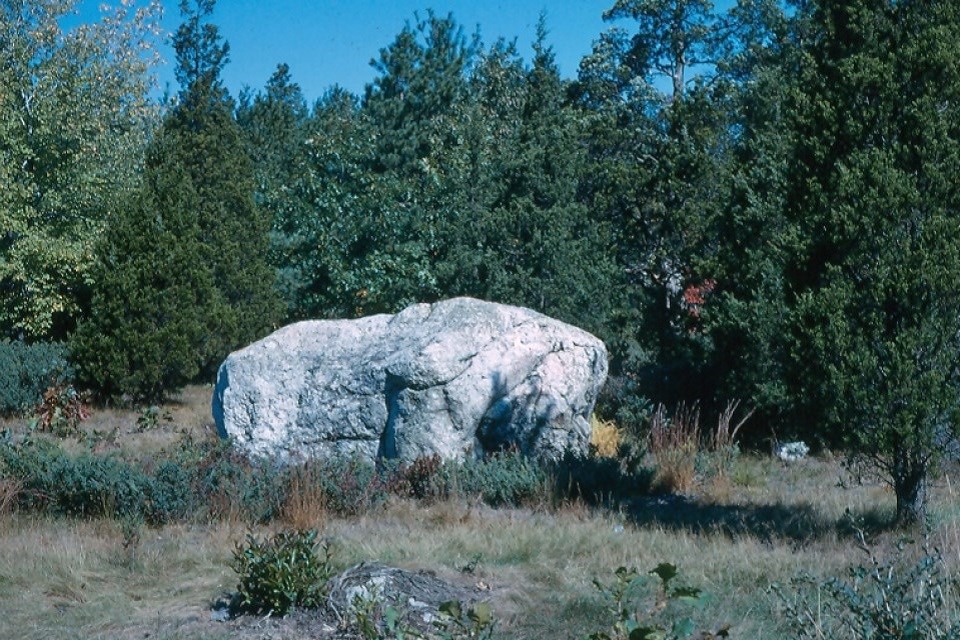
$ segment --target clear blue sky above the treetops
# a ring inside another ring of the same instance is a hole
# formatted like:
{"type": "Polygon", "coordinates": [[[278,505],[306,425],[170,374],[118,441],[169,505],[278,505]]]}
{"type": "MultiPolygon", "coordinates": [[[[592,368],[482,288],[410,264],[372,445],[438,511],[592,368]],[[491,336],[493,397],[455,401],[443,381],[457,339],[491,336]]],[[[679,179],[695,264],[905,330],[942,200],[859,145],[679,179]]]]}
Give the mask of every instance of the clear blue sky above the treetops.
{"type": "MultiPolygon", "coordinates": [[[[102,0],[81,0],[80,20],[95,20],[102,0]]],[[[141,4],[141,0],[137,0],[141,4]]],[[[244,85],[263,87],[280,62],[290,65],[294,81],[308,101],[334,84],[362,93],[373,79],[370,60],[412,20],[432,8],[453,13],[469,35],[479,26],[487,44],[498,37],[517,38],[530,59],[537,18],[546,11],[548,42],[565,77],[576,75],[580,59],[597,36],[609,28],[603,12],[614,0],[220,0],[212,21],[230,43],[231,62],[224,81],[236,95],[244,85]]],[[[112,2],[110,3],[112,4],[112,2]]],[[[726,6],[729,2],[718,2],[726,6]]],[[[177,0],[163,0],[163,26],[172,32],[180,22],[177,0]]],[[[166,64],[158,70],[161,90],[173,79],[173,51],[164,44],[166,64]]]]}

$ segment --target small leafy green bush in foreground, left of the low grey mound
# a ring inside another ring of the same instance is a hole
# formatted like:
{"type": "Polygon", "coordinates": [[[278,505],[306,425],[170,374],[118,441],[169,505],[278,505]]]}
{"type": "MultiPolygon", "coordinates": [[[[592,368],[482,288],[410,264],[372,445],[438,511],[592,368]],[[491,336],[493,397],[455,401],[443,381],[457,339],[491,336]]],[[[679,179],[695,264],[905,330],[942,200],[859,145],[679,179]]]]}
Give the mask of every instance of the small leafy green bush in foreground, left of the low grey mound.
{"type": "Polygon", "coordinates": [[[263,541],[247,534],[231,568],[240,576],[234,613],[282,616],[294,607],[317,608],[333,576],[330,546],[318,544],[314,530],[281,531],[263,541]]]}

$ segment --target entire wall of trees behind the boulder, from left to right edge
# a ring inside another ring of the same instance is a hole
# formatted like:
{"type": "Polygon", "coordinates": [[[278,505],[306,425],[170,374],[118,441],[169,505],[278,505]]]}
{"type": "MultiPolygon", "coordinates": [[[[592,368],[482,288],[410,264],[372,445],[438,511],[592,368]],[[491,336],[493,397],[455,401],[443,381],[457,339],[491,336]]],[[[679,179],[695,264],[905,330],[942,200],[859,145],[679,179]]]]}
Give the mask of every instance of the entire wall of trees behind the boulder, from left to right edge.
{"type": "Polygon", "coordinates": [[[308,105],[284,64],[234,101],[185,0],[161,118],[152,13],[63,32],[74,4],[0,4],[4,337],[157,400],[283,320],[472,295],[602,337],[624,426],[741,399],[922,517],[958,407],[950,3],[617,0],[575,80],[544,20],[527,61],[428,12],[308,105]]]}

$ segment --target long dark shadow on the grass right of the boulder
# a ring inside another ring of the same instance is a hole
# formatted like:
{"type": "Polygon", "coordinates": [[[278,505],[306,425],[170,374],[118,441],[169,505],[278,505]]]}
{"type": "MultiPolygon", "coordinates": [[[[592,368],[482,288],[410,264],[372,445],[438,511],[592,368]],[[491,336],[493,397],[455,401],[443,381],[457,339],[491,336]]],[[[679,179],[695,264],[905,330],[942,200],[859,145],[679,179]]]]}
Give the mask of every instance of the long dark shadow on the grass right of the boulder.
{"type": "Polygon", "coordinates": [[[621,506],[638,527],[750,536],[764,542],[853,538],[858,531],[879,534],[894,528],[893,513],[882,509],[833,519],[810,504],[718,504],[679,495],[632,498],[621,506]]]}

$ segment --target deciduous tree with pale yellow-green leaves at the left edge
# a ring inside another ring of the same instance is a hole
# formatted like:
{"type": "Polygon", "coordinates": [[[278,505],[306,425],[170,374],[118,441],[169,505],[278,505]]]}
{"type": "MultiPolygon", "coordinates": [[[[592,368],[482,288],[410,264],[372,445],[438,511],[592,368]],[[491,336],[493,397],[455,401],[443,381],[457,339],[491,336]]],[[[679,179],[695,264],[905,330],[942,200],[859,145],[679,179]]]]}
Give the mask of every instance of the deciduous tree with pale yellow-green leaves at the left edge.
{"type": "Polygon", "coordinates": [[[159,3],[65,29],[76,5],[0,2],[0,335],[72,329],[155,124],[159,3]]]}

